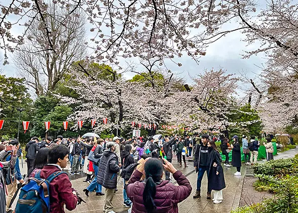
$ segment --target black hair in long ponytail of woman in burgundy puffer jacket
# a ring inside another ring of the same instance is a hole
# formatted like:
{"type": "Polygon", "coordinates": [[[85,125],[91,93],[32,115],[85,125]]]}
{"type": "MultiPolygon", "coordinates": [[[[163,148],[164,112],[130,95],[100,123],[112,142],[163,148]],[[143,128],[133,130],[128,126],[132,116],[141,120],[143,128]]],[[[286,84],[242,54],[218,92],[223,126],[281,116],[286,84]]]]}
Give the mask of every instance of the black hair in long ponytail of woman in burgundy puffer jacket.
{"type": "Polygon", "coordinates": [[[143,202],[146,211],[151,213],[156,209],[156,205],[154,203],[154,197],[156,194],[155,183],[158,183],[161,180],[163,165],[157,158],[152,158],[145,163],[144,169],[146,174],[146,184],[143,192],[143,202]]]}

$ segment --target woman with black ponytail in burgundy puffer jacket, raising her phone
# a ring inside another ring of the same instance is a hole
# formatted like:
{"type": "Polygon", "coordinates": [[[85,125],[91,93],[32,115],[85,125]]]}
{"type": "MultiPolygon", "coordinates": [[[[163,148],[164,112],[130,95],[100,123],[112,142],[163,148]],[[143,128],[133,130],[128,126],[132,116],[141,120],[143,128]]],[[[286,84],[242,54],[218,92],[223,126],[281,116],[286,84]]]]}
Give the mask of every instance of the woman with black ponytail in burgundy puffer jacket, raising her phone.
{"type": "Polygon", "coordinates": [[[190,196],[192,187],[187,177],[181,171],[163,159],[147,158],[144,163],[133,172],[126,193],[132,201],[132,213],[178,212],[178,203],[190,196]],[[179,186],[162,181],[163,168],[173,174],[179,186]],[[140,182],[145,172],[145,181],[140,182]]]}

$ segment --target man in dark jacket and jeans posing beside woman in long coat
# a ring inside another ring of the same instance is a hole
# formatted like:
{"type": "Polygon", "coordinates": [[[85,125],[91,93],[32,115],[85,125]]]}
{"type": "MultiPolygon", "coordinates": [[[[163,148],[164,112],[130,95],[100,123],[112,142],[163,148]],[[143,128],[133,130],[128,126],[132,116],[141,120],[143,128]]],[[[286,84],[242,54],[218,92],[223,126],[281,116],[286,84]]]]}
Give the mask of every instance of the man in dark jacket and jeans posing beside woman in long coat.
{"type": "MultiPolygon", "coordinates": [[[[208,176],[208,141],[210,140],[210,137],[208,134],[202,134],[202,143],[198,144],[196,153],[195,153],[195,160],[194,160],[194,167],[196,171],[198,172],[198,180],[197,180],[197,192],[194,195],[194,198],[201,197],[201,184],[202,179],[205,171],[207,172],[208,176]]],[[[211,199],[211,192],[207,189],[207,199],[211,199]]]]}

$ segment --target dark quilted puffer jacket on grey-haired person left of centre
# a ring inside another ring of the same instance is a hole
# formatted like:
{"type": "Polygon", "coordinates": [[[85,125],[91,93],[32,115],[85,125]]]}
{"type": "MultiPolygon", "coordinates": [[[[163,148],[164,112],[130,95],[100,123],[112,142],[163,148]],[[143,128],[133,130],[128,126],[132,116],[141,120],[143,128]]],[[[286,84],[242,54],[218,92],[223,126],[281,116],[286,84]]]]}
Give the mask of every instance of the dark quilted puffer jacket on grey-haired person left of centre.
{"type": "Polygon", "coordinates": [[[116,189],[117,172],[119,171],[117,155],[109,150],[104,150],[99,161],[97,183],[107,189],[116,189]]]}

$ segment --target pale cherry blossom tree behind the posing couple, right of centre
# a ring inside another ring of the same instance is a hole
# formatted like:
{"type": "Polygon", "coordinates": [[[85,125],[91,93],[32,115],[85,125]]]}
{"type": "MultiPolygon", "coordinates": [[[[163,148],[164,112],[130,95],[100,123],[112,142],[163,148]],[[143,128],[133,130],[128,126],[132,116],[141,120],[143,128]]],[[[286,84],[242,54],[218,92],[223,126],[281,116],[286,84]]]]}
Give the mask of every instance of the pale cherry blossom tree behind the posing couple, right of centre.
{"type": "Polygon", "coordinates": [[[171,122],[201,130],[227,130],[231,125],[228,115],[237,109],[233,95],[239,79],[225,70],[211,69],[193,80],[194,85],[184,85],[187,91],[174,94],[172,99],[179,104],[170,104],[171,122]]]}

